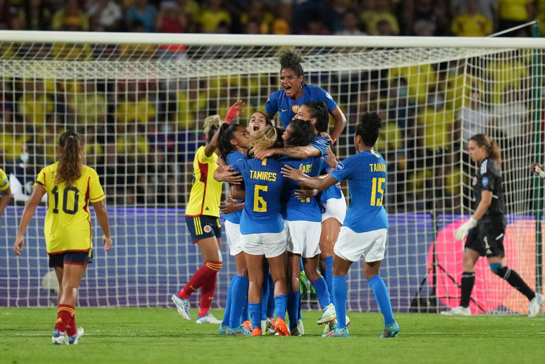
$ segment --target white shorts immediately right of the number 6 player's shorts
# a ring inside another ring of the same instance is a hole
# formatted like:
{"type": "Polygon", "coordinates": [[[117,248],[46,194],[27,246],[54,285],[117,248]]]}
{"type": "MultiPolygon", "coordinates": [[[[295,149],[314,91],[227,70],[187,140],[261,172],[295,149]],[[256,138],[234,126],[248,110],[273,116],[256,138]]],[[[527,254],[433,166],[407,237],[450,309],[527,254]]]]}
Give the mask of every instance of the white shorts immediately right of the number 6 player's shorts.
{"type": "Polygon", "coordinates": [[[316,221],[284,221],[288,252],[301,254],[303,258],[316,257],[320,250],[322,223],[316,221]]]}

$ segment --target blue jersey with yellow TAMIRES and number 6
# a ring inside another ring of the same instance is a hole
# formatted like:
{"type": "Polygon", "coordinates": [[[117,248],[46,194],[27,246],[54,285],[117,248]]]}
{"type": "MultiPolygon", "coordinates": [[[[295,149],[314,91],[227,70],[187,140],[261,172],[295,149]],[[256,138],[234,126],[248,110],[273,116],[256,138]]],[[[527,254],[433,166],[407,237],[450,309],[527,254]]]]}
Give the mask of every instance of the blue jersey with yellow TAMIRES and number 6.
{"type": "Polygon", "coordinates": [[[283,231],[280,195],[285,178],[280,173],[282,165],[272,158],[239,160],[233,164],[233,171],[240,172],[246,186],[244,210],[240,217],[241,234],[283,231]]]}

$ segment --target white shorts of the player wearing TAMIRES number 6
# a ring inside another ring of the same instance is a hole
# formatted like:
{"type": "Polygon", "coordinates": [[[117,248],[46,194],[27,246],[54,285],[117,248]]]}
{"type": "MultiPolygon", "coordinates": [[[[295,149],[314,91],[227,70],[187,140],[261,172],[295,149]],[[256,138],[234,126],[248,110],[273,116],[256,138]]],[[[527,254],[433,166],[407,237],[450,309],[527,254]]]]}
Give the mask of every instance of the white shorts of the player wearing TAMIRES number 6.
{"type": "Polygon", "coordinates": [[[274,258],[286,252],[286,230],[280,233],[240,234],[240,245],[252,256],[274,258]]]}

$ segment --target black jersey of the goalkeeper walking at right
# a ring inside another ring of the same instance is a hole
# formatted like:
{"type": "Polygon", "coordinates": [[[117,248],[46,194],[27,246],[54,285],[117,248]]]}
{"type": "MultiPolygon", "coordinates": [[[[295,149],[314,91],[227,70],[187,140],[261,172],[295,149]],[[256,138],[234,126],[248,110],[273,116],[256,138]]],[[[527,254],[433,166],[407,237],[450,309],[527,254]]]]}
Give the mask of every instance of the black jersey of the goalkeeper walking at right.
{"type": "Polygon", "coordinates": [[[481,192],[491,191],[492,202],[483,217],[498,217],[505,215],[504,189],[501,186],[502,178],[500,167],[490,157],[481,162],[477,174],[473,177],[473,196],[475,196],[475,208],[481,202],[481,192]]]}

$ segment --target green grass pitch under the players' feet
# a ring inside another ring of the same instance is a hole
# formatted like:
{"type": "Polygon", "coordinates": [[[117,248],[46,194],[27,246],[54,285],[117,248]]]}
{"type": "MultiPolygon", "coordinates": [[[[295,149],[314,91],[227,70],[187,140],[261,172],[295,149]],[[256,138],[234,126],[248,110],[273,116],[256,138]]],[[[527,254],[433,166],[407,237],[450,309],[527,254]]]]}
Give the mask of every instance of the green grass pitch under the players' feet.
{"type": "MultiPolygon", "coordinates": [[[[212,310],[221,318],[223,311],[212,310]]],[[[0,363],[542,363],[545,316],[396,314],[401,333],[381,339],[382,316],[349,312],[349,338],[320,337],[304,311],[300,337],[218,336],[218,325],[186,321],[175,308],[77,308],[85,335],[53,345],[56,308],[0,308],[0,363]]],[[[193,317],[197,311],[191,310],[193,317]]]]}

